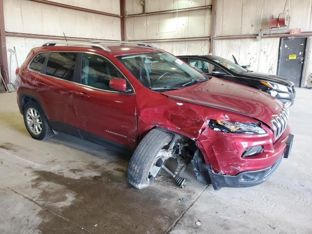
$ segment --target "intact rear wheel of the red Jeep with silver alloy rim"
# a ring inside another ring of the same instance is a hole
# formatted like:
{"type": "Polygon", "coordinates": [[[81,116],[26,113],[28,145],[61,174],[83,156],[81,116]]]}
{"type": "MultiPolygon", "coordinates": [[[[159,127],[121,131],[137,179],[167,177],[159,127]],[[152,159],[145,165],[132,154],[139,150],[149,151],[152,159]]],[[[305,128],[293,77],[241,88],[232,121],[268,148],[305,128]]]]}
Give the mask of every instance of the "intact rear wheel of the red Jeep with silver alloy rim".
{"type": "Polygon", "coordinates": [[[31,137],[43,140],[54,135],[38,103],[33,101],[27,103],[23,111],[24,123],[31,137]]]}

